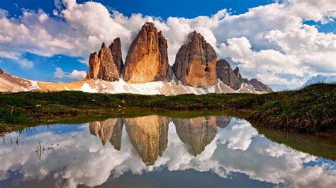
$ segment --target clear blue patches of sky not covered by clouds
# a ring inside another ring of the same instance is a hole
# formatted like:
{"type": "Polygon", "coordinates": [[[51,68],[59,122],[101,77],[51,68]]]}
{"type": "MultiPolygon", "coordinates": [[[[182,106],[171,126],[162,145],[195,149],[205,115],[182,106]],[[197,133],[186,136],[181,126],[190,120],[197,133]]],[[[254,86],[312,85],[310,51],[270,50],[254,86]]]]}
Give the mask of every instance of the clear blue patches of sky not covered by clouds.
{"type": "MultiPolygon", "coordinates": [[[[78,3],[84,3],[86,1],[77,1],[78,3]]],[[[143,15],[150,15],[155,17],[161,17],[167,19],[169,16],[194,18],[196,16],[211,16],[217,11],[227,8],[232,8],[234,14],[245,13],[248,8],[269,4],[269,0],[256,0],[248,1],[218,1],[218,0],[164,0],[164,1],[125,1],[125,0],[113,0],[113,1],[96,1],[108,6],[109,8],[120,11],[125,16],[131,16],[133,13],[142,13],[143,15]],[[177,6],[178,5],[178,6],[177,6]]],[[[1,2],[0,8],[9,12],[9,16],[18,17],[22,16],[22,8],[37,10],[43,9],[46,13],[52,16],[52,10],[55,9],[54,1],[50,0],[21,0],[21,1],[4,1],[1,2]]],[[[89,55],[89,54],[88,54],[89,55]]],[[[61,67],[63,71],[71,72],[74,69],[79,71],[87,71],[88,66],[80,63],[81,57],[69,57],[62,54],[56,54],[53,57],[43,57],[31,53],[24,54],[24,57],[29,61],[34,62],[34,68],[27,71],[26,68],[19,68],[13,64],[13,60],[0,58],[0,67],[5,71],[15,74],[17,76],[23,76],[24,78],[36,79],[39,81],[72,81],[69,78],[55,78],[53,72],[56,67],[61,67]]]]}

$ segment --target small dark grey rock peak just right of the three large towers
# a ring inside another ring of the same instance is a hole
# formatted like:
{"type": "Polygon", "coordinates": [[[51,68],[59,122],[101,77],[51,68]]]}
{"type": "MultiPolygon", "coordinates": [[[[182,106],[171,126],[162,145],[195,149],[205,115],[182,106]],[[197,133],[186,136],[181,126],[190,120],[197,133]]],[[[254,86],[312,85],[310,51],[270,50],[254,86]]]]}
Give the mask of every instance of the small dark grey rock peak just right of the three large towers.
{"type": "Polygon", "coordinates": [[[237,78],[233,69],[231,69],[231,66],[228,63],[228,61],[226,61],[225,59],[218,60],[215,69],[217,78],[220,79],[220,81],[223,81],[223,83],[225,83],[226,86],[229,86],[230,88],[233,88],[235,90],[240,88],[242,83],[239,80],[239,78],[237,78]]]}

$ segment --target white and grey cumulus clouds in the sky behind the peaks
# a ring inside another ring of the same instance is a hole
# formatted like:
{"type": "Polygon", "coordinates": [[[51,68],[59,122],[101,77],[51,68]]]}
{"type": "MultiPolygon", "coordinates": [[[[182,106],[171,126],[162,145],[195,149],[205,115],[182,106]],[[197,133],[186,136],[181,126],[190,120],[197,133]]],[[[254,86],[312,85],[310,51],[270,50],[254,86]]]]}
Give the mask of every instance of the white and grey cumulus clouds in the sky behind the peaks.
{"type": "Polygon", "coordinates": [[[220,10],[213,16],[196,18],[133,14],[124,16],[100,3],[56,0],[54,18],[43,10],[23,10],[19,18],[0,11],[0,56],[22,59],[30,52],[46,57],[54,54],[88,59],[101,42],[121,37],[123,58],[141,26],[154,22],[168,40],[169,64],[192,30],[204,35],[218,57],[232,59],[248,78],[278,86],[301,84],[315,74],[335,73],[336,38],[319,33],[305,20],[330,23],[336,17],[335,1],[276,1],[232,15],[220,10]],[[56,18],[55,18],[56,17],[56,18]]]}

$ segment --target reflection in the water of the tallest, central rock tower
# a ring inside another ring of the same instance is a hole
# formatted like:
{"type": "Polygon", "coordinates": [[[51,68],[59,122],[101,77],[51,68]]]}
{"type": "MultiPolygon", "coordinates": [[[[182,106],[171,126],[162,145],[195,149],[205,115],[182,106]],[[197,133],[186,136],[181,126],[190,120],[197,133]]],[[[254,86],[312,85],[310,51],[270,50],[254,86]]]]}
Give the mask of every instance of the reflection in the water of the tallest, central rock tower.
{"type": "Polygon", "coordinates": [[[167,117],[157,115],[125,119],[125,128],[142,162],[154,165],[168,145],[167,117]]]}

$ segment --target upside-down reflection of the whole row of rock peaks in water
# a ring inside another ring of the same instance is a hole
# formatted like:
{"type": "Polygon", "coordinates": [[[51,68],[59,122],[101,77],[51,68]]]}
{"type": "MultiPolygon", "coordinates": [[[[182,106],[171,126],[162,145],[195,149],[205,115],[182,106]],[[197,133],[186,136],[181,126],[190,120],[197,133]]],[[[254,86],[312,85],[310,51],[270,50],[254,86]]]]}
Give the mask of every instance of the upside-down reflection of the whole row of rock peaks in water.
{"type": "Polygon", "coordinates": [[[191,155],[201,154],[206,146],[215,138],[217,126],[225,128],[230,117],[196,117],[192,119],[145,117],[106,119],[89,124],[90,133],[99,136],[103,146],[110,141],[116,150],[121,149],[123,124],[128,138],[146,165],[154,165],[159,156],[167,149],[169,122],[176,127],[179,139],[186,144],[191,155]]]}

